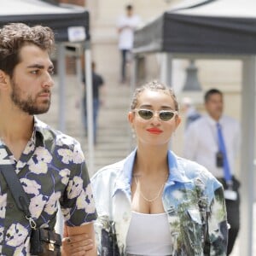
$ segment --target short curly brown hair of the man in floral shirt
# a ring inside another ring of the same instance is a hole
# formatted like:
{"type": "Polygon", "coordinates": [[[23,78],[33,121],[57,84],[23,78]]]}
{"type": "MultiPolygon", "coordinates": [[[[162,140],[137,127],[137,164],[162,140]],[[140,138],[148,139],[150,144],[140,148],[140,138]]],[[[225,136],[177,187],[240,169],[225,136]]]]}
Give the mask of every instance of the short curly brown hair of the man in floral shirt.
{"type": "Polygon", "coordinates": [[[48,26],[27,26],[10,23],[0,29],[0,69],[11,78],[20,62],[20,49],[26,44],[35,44],[49,53],[54,49],[54,32],[48,26]]]}

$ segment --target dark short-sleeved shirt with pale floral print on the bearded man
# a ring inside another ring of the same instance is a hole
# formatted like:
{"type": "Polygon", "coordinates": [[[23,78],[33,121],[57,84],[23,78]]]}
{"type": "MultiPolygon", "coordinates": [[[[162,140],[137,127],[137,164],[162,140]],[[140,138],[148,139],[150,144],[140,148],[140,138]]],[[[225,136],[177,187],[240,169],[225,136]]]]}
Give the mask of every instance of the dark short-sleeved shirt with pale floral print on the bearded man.
{"type": "MultiPolygon", "coordinates": [[[[5,147],[0,140],[0,145],[5,147]]],[[[38,227],[54,229],[58,202],[68,226],[96,219],[90,178],[80,144],[34,118],[34,132],[20,160],[5,147],[30,199],[29,211],[38,227]]],[[[31,227],[0,173],[0,254],[30,255],[31,227]]]]}

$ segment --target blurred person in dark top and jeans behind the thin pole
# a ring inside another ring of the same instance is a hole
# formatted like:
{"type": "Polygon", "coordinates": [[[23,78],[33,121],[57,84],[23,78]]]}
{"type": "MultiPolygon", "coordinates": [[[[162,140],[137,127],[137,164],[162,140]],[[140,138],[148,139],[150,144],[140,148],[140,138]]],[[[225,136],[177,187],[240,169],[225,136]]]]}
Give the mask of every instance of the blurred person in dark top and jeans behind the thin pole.
{"type": "MultiPolygon", "coordinates": [[[[91,71],[92,71],[92,104],[93,104],[93,135],[94,135],[94,143],[96,144],[97,137],[97,117],[99,113],[99,108],[103,104],[102,94],[105,88],[104,79],[102,75],[96,73],[96,63],[92,61],[91,63],[91,71]]],[[[83,78],[84,82],[84,126],[85,131],[87,131],[87,103],[86,103],[86,87],[85,87],[85,78],[83,78]]]]}

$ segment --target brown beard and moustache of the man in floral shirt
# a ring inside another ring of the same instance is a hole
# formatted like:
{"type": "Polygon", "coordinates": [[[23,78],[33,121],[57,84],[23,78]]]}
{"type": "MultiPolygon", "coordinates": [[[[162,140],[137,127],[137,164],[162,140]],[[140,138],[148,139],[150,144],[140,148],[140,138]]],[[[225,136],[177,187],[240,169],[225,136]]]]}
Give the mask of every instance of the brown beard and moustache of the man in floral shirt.
{"type": "Polygon", "coordinates": [[[26,100],[22,100],[20,98],[21,90],[13,79],[11,81],[11,85],[13,89],[11,94],[11,100],[12,102],[14,102],[16,107],[20,108],[21,111],[28,113],[30,115],[48,112],[50,100],[45,100],[42,106],[37,106],[36,100],[39,94],[49,93],[49,90],[45,89],[43,91],[40,91],[40,93],[37,96],[35,96],[35,98],[32,98],[32,96],[28,96],[26,100]]]}

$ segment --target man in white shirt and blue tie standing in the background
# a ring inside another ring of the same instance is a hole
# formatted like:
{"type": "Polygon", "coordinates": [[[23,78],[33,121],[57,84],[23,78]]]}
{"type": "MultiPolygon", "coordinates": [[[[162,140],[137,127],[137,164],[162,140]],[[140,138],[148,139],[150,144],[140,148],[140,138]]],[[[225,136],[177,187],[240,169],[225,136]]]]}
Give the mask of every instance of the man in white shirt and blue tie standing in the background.
{"type": "Polygon", "coordinates": [[[241,131],[236,119],[224,115],[224,96],[220,90],[207,90],[204,100],[207,114],[189,125],[184,138],[183,156],[206,166],[224,185],[230,224],[229,255],[234,247],[240,225],[239,181],[234,172],[241,131]]]}

